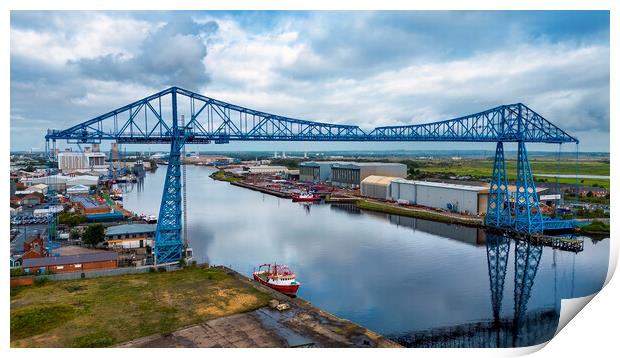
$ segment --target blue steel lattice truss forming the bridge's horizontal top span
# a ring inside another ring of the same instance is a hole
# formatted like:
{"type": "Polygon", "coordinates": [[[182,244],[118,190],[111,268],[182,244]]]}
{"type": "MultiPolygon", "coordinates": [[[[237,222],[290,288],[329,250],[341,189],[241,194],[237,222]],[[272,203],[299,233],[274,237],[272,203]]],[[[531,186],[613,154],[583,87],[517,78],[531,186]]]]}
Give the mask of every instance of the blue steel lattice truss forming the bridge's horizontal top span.
{"type": "Polygon", "coordinates": [[[169,143],[172,94],[186,120],[187,143],[229,141],[456,141],[578,142],[524,104],[498,106],[436,123],[378,127],[294,119],[237,106],[171,87],[65,130],[50,130],[47,140],[77,143],[169,143]]]}

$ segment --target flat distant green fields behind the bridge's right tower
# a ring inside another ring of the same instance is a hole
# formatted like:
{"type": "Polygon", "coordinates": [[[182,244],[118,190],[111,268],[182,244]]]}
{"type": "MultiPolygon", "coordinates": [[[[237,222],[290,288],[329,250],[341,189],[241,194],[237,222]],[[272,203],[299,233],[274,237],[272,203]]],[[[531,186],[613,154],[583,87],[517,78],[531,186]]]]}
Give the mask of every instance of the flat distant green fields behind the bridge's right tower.
{"type": "MultiPolygon", "coordinates": [[[[575,162],[566,161],[561,162],[558,166],[557,162],[554,161],[540,161],[540,160],[532,160],[530,162],[532,165],[532,171],[534,174],[565,174],[565,175],[575,175],[576,167],[575,162]]],[[[489,178],[493,174],[493,162],[490,160],[458,160],[458,161],[450,161],[450,160],[433,160],[433,161],[425,161],[420,163],[421,167],[419,168],[422,173],[429,174],[452,174],[457,176],[473,176],[478,178],[489,178]]],[[[514,180],[517,175],[517,163],[514,160],[506,161],[506,175],[508,175],[509,180],[514,180]]],[[[582,175],[609,175],[610,166],[609,163],[605,162],[596,162],[596,161],[588,161],[588,162],[580,162],[579,163],[579,174],[582,175]]],[[[536,175],[534,175],[536,177],[536,175]]],[[[538,177],[537,180],[545,179],[549,183],[555,183],[555,178],[553,177],[538,177]]],[[[574,185],[574,178],[560,178],[560,184],[569,184],[574,185]]],[[[592,186],[597,184],[598,186],[602,186],[605,188],[609,188],[609,179],[583,179],[583,183],[580,185],[588,185],[592,186]]]]}

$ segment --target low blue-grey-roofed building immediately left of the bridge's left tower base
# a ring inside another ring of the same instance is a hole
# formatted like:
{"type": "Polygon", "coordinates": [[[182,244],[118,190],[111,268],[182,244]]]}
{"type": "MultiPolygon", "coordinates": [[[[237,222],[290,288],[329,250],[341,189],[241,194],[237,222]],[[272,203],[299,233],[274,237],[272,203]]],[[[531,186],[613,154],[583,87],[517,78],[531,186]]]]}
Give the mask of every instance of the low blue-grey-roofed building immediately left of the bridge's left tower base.
{"type": "Polygon", "coordinates": [[[105,240],[109,248],[135,249],[153,247],[157,224],[126,224],[106,229],[105,240]]]}

